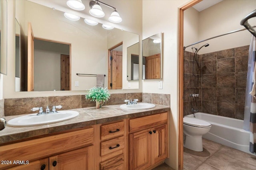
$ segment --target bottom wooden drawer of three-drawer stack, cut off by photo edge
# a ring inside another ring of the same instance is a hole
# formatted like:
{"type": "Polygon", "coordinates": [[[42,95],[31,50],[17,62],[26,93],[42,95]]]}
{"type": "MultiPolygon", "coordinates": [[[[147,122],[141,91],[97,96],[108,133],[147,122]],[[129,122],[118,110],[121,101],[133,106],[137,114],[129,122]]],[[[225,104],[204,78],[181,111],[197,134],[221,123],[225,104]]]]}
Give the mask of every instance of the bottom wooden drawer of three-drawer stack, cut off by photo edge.
{"type": "Polygon", "coordinates": [[[124,170],[124,154],[101,162],[100,170],[124,170]]]}

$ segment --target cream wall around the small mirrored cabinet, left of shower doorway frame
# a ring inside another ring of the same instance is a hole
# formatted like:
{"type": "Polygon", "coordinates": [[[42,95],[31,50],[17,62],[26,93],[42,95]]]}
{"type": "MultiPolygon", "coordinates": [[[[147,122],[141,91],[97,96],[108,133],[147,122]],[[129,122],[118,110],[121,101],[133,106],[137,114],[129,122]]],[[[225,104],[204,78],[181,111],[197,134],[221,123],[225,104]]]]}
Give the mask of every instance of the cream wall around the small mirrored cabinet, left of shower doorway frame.
{"type": "Polygon", "coordinates": [[[188,0],[142,1],[142,38],[163,32],[163,89],[158,80],[143,80],[142,92],[170,94],[169,158],[166,163],[178,169],[178,18],[179,8],[188,0]]]}

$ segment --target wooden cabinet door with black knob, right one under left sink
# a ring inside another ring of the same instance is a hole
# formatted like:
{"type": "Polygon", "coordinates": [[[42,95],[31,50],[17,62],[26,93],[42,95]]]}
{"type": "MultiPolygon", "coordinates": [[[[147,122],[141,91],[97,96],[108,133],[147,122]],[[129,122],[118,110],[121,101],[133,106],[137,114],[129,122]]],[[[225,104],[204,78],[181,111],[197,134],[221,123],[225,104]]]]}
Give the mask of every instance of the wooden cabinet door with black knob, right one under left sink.
{"type": "Polygon", "coordinates": [[[89,170],[88,147],[49,158],[49,170],[89,170]]]}

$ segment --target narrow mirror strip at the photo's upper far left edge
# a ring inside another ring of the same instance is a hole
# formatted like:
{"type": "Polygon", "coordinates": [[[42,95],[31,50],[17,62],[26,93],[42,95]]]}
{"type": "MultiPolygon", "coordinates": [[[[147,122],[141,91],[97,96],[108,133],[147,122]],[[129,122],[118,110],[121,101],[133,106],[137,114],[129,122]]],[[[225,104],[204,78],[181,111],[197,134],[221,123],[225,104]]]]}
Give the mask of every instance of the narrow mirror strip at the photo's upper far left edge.
{"type": "Polygon", "coordinates": [[[0,1],[0,73],[7,75],[7,1],[0,1]]]}

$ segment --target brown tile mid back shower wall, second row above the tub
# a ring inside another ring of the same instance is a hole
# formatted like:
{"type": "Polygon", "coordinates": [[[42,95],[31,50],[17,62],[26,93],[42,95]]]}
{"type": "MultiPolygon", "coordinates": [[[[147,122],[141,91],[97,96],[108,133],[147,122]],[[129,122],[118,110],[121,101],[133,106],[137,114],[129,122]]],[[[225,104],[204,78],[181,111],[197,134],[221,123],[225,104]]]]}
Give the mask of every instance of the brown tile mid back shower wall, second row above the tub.
{"type": "Polygon", "coordinates": [[[217,101],[235,103],[235,88],[218,88],[217,101]]]}

